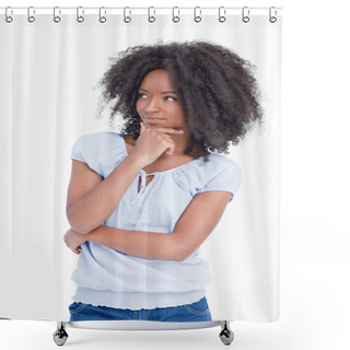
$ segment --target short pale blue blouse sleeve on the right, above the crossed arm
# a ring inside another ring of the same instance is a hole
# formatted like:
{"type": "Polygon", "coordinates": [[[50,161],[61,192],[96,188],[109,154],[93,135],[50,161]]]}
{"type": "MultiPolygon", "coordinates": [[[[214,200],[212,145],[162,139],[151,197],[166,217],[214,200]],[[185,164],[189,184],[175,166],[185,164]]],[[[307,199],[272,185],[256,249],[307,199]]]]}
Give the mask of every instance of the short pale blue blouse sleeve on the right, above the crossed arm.
{"type": "Polygon", "coordinates": [[[213,154],[206,163],[205,175],[202,176],[199,187],[196,188],[198,194],[210,190],[222,190],[231,192],[231,199],[238,191],[242,172],[238,164],[223,155],[213,154]]]}

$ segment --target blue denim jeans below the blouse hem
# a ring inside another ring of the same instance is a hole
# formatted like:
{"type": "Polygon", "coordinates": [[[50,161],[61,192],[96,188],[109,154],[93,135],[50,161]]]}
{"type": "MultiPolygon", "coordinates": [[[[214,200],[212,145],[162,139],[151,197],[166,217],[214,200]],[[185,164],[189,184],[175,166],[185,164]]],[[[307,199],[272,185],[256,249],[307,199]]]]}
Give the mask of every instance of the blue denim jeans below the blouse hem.
{"type": "Polygon", "coordinates": [[[211,320],[207,299],[199,302],[174,306],[156,307],[150,310],[113,308],[107,306],[93,306],[83,303],[69,305],[70,322],[79,320],[113,320],[113,319],[142,319],[159,322],[208,322],[211,320]]]}

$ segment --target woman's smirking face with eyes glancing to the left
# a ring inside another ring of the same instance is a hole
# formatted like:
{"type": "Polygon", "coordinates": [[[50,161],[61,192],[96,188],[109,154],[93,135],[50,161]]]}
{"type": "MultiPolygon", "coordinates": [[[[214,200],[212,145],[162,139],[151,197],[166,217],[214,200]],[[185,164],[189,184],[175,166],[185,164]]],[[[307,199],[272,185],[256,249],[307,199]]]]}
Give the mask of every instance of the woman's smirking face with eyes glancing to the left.
{"type": "Polygon", "coordinates": [[[188,129],[179,98],[165,69],[149,72],[139,88],[136,109],[145,128],[188,129]]]}

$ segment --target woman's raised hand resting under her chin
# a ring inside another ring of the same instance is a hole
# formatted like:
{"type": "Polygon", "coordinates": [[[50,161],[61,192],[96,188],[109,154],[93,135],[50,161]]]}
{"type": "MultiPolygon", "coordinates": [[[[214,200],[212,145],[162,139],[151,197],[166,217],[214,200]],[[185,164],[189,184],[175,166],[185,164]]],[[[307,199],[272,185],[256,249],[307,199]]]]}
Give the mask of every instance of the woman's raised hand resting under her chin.
{"type": "Polygon", "coordinates": [[[172,135],[182,135],[183,130],[174,128],[145,128],[141,122],[140,136],[136,142],[133,154],[138,154],[144,162],[144,166],[153,163],[164,152],[173,154],[175,141],[172,135]]]}

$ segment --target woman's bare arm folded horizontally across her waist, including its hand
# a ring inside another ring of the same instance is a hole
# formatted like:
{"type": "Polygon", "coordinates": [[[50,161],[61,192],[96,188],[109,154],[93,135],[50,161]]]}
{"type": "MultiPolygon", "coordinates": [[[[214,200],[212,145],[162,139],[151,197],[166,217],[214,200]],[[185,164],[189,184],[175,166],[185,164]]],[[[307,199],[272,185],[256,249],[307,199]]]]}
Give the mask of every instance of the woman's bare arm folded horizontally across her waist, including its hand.
{"type": "Polygon", "coordinates": [[[215,228],[230,196],[231,194],[225,191],[198,194],[172,234],[98,226],[88,234],[68,231],[67,244],[77,254],[80,253],[80,245],[90,241],[141,258],[182,261],[192,254],[215,228]]]}

